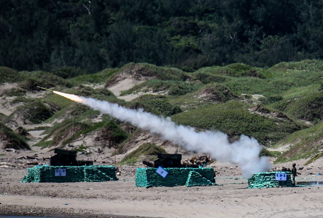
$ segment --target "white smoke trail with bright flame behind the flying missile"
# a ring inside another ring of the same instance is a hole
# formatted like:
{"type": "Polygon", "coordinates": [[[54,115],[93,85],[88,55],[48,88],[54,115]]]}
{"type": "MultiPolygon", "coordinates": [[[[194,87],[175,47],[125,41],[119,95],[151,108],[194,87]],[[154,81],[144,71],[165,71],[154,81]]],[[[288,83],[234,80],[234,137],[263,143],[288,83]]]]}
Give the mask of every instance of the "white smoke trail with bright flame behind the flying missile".
{"type": "Polygon", "coordinates": [[[218,161],[238,164],[246,178],[251,177],[254,173],[264,172],[271,168],[267,157],[259,158],[261,147],[255,138],[241,135],[240,140],[230,143],[228,136],[222,132],[195,132],[192,127],[178,126],[169,117],[159,117],[144,112],[143,109],[127,109],[115,103],[93,98],[66,93],[56,94],[85,104],[121,121],[130,122],[134,126],[158,135],[161,139],[179,143],[187,150],[210,153],[211,157],[218,161]]]}

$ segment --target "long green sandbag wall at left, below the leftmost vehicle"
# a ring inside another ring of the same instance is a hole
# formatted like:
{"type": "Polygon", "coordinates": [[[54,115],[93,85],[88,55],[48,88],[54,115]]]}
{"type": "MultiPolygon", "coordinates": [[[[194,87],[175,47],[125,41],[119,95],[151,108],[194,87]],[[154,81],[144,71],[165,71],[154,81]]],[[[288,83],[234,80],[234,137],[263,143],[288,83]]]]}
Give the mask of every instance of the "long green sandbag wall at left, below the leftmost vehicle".
{"type": "Polygon", "coordinates": [[[114,166],[34,166],[21,182],[66,183],[116,181],[114,166]],[[66,176],[56,176],[56,169],[66,169],[66,176]]]}

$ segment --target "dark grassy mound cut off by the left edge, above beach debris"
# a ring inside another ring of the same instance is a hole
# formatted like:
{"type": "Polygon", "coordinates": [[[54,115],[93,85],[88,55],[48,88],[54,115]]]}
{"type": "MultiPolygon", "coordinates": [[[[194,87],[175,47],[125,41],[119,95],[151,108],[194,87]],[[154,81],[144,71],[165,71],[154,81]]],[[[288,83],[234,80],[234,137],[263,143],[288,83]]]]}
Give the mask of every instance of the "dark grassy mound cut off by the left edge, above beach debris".
{"type": "Polygon", "coordinates": [[[15,133],[3,123],[0,123],[0,140],[3,142],[2,148],[30,149],[23,136],[15,133]]]}

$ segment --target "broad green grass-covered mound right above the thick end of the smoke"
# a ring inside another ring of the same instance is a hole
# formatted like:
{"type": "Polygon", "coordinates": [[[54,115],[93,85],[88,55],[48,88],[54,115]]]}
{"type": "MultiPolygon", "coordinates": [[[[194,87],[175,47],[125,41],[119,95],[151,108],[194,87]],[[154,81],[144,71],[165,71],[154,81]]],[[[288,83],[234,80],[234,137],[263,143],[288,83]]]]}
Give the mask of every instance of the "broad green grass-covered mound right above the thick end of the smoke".
{"type": "Polygon", "coordinates": [[[250,113],[243,103],[234,100],[192,109],[174,115],[172,120],[175,119],[179,124],[199,129],[215,129],[229,136],[245,134],[255,137],[266,146],[300,129],[296,123],[290,121],[250,113]]]}

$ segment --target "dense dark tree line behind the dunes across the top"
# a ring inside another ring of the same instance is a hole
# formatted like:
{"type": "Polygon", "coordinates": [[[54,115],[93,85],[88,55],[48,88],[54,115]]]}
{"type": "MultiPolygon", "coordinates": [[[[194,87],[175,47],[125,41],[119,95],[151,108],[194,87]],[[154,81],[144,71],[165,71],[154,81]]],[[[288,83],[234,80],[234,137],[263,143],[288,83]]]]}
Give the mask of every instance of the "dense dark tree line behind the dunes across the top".
{"type": "Polygon", "coordinates": [[[271,66],[323,58],[323,0],[0,1],[0,65],[271,66]]]}

